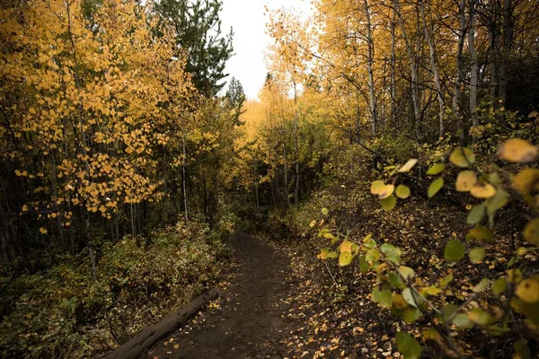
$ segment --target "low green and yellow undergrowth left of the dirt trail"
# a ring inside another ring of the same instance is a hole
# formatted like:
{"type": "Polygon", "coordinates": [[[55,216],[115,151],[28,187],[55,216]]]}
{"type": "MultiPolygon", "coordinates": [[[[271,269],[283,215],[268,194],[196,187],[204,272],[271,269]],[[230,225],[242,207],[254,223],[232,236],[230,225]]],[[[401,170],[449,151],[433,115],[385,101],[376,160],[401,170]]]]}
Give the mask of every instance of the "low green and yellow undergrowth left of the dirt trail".
{"type": "Polygon", "coordinates": [[[216,281],[228,256],[221,241],[228,230],[178,223],[151,238],[106,244],[97,281],[85,252],[35,273],[4,268],[0,356],[82,358],[109,352],[216,281]]]}

